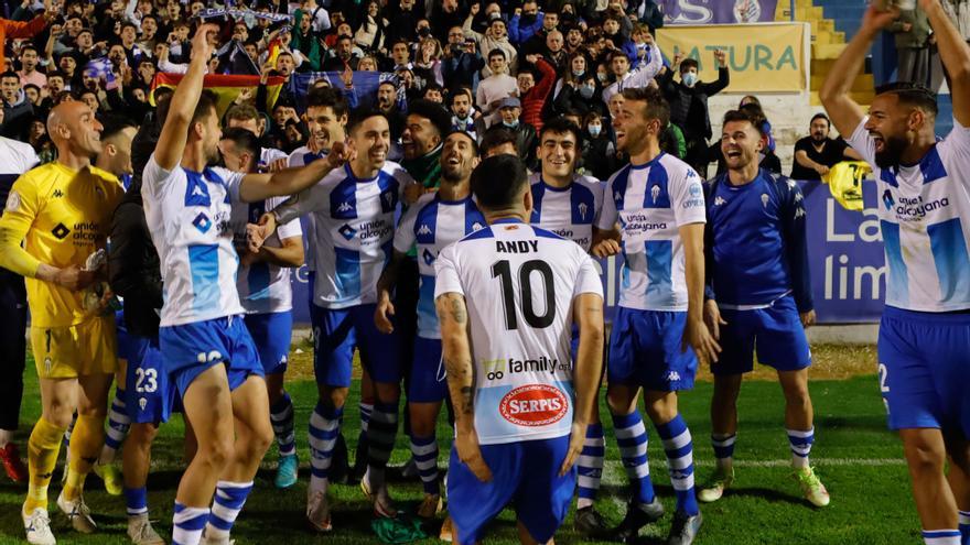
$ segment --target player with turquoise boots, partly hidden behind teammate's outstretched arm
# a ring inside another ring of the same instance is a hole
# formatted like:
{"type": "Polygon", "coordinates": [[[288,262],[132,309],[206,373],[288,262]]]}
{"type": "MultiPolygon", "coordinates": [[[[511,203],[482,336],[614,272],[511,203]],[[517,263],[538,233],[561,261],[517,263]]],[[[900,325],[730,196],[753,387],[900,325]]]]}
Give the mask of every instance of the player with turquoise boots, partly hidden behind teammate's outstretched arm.
{"type": "MultiPolygon", "coordinates": [[[[259,163],[259,141],[246,129],[229,129],[223,133],[219,150],[226,167],[249,174],[259,163]]],[[[279,444],[280,459],[274,484],[289,488],[297,482],[297,437],[293,432],[293,402],[283,389],[283,374],[290,357],[293,337],[293,288],[290,269],[303,264],[303,231],[300,221],[280,226],[258,253],[248,251],[246,226],[282,203],[272,197],[258,203],[233,203],[233,236],[239,252],[239,273],[236,286],[246,308],[246,327],[259,351],[259,361],[266,372],[270,419],[279,444]]]]}

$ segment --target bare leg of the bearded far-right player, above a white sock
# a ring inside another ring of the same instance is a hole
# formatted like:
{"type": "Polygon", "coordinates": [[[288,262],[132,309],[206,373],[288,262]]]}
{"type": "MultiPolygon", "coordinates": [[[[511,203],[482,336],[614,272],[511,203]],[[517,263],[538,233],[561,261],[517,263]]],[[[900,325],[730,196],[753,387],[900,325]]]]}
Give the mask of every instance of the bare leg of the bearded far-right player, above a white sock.
{"type": "Polygon", "coordinates": [[[913,498],[924,531],[957,527],[957,502],[944,475],[947,453],[936,428],[899,430],[913,481],[913,498]]]}

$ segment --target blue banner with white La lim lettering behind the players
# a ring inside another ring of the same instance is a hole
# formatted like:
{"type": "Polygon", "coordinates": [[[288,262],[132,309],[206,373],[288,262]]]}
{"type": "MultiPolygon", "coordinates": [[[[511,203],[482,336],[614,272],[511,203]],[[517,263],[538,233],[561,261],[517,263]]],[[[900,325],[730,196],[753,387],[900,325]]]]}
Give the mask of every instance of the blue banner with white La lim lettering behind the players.
{"type": "MultiPolygon", "coordinates": [[[[842,208],[827,185],[801,184],[808,220],[808,257],[815,309],[820,324],[879,321],[886,291],[875,184],[863,184],[862,214],[842,208]]],[[[619,299],[622,257],[595,260],[603,279],[606,320],[619,299]]],[[[293,318],[309,324],[306,268],[293,279],[293,318]]]]}

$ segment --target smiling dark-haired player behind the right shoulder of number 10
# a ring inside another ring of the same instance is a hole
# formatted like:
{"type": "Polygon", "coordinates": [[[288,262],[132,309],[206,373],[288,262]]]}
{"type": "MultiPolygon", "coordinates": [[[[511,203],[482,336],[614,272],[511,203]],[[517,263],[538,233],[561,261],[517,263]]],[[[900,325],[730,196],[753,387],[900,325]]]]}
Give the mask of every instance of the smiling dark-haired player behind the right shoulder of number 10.
{"type": "MultiPolygon", "coordinates": [[[[589,252],[603,207],[603,184],[594,177],[574,173],[580,142],[579,127],[563,117],[552,118],[542,126],[537,152],[541,171],[529,176],[532,193],[530,224],[570,239],[589,252]]],[[[573,352],[576,340],[574,335],[573,352]]],[[[594,402],[583,455],[579,459],[579,500],[574,521],[576,530],[586,535],[599,535],[606,528],[603,517],[593,509],[603,476],[605,447],[600,406],[594,402]]]]}

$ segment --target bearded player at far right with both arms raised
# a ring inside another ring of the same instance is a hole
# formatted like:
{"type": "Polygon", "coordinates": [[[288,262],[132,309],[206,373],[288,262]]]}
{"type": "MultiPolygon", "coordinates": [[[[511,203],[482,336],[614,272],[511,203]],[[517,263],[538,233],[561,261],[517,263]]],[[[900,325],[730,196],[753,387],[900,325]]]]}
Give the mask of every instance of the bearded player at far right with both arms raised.
{"type": "Polygon", "coordinates": [[[877,88],[867,116],[850,96],[869,46],[896,20],[895,10],[869,8],[819,96],[876,179],[888,268],[880,389],[888,425],[903,439],[923,539],[958,545],[961,531],[970,539],[970,48],[940,0],[920,0],[919,9],[952,80],[953,129],[944,140],[934,133],[936,96],[922,86],[877,88]]]}

